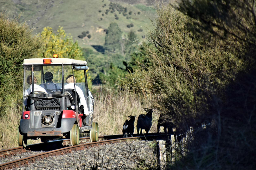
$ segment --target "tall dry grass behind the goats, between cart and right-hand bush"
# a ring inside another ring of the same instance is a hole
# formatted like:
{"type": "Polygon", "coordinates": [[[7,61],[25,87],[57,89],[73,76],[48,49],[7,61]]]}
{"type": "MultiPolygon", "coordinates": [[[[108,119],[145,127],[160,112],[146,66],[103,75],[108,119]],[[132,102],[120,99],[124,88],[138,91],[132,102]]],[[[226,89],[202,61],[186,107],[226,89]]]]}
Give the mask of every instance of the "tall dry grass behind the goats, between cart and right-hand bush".
{"type": "MultiPolygon", "coordinates": [[[[122,126],[129,115],[137,115],[134,122],[134,133],[137,133],[137,119],[146,112],[143,108],[150,108],[149,101],[137,94],[113,90],[98,89],[94,104],[94,121],[98,122],[100,135],[122,134],[122,126]]],[[[152,127],[149,132],[157,131],[159,114],[153,112],[152,127]]],[[[143,130],[145,133],[145,131],[143,130]]]]}

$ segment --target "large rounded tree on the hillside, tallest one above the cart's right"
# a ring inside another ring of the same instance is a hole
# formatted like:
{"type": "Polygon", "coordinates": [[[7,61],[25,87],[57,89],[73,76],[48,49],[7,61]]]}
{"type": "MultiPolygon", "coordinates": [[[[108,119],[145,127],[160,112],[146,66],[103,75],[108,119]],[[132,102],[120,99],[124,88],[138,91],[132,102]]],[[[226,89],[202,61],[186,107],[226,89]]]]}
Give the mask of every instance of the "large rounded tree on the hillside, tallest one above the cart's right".
{"type": "Polygon", "coordinates": [[[111,23],[107,29],[104,47],[109,52],[121,51],[122,31],[117,23],[111,23]]]}

